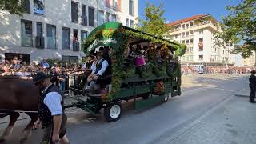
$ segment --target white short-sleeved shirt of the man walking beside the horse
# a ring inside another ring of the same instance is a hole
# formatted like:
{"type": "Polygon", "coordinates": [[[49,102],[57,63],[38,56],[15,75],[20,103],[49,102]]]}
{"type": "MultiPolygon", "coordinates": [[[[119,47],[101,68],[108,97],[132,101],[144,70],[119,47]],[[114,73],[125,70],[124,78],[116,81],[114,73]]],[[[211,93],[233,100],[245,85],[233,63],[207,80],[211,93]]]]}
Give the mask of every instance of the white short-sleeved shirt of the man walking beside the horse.
{"type": "MultiPolygon", "coordinates": [[[[51,85],[50,85],[51,86],[51,85]]],[[[50,87],[47,86],[43,92],[50,87]]],[[[46,98],[44,98],[43,103],[48,107],[50,110],[51,115],[62,115],[62,95],[58,94],[57,92],[50,92],[46,94],[46,98]]]]}

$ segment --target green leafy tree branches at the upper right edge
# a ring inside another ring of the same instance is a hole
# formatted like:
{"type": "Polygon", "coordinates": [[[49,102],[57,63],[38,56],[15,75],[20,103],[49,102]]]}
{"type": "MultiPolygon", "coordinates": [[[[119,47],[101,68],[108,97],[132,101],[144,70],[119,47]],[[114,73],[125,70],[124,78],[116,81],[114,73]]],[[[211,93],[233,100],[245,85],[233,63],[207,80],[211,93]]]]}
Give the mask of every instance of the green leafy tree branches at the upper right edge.
{"type": "Polygon", "coordinates": [[[223,41],[219,45],[238,44],[234,47],[234,54],[241,54],[247,58],[256,50],[256,0],[242,0],[238,6],[227,6],[230,14],[222,18],[222,32],[217,38],[223,41]]]}

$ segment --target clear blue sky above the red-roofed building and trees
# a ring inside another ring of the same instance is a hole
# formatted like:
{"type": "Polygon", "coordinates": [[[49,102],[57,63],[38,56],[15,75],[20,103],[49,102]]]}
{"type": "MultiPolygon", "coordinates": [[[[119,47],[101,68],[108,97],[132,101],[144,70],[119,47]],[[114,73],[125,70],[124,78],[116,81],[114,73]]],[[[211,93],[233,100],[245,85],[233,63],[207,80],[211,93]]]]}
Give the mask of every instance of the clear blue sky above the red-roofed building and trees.
{"type": "MultiPolygon", "coordinates": [[[[189,18],[197,14],[210,14],[219,22],[222,22],[222,16],[229,14],[226,6],[237,6],[240,0],[138,0],[139,17],[144,18],[143,12],[146,2],[159,6],[163,3],[163,9],[166,10],[164,18],[166,22],[175,22],[183,18],[189,18]]],[[[235,55],[236,65],[242,65],[242,57],[235,55]]]]}

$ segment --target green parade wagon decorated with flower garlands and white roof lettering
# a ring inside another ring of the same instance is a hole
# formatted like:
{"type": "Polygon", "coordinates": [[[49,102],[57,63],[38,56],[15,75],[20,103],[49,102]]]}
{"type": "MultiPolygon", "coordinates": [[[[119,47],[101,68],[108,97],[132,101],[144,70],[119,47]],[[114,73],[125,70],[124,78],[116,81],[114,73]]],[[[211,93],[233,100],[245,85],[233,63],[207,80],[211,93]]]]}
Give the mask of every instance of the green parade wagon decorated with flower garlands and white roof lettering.
{"type": "Polygon", "coordinates": [[[100,90],[80,91],[88,98],[74,106],[91,114],[103,108],[106,120],[115,122],[122,114],[122,102],[134,99],[139,109],[181,94],[178,56],[185,53],[185,45],[108,22],[95,28],[83,44],[86,54],[99,47],[108,50],[109,72],[98,79],[100,90]]]}

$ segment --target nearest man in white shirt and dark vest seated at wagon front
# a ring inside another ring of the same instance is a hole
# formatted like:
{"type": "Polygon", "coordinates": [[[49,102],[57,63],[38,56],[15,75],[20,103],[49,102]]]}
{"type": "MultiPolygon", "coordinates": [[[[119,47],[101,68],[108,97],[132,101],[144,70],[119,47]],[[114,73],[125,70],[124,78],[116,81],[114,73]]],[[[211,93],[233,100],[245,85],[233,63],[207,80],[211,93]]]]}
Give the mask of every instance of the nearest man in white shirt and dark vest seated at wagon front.
{"type": "Polygon", "coordinates": [[[102,75],[105,73],[106,68],[109,66],[109,62],[105,58],[103,58],[103,49],[104,47],[98,47],[96,48],[96,54],[97,54],[97,62],[96,66],[93,66],[93,71],[87,78],[87,86],[86,91],[92,90],[97,82],[97,80],[102,77],[102,75]]]}

